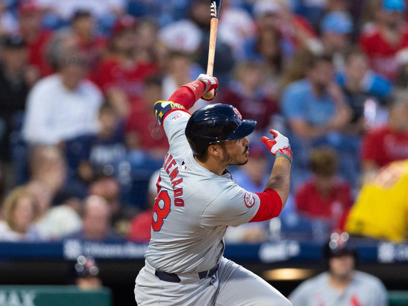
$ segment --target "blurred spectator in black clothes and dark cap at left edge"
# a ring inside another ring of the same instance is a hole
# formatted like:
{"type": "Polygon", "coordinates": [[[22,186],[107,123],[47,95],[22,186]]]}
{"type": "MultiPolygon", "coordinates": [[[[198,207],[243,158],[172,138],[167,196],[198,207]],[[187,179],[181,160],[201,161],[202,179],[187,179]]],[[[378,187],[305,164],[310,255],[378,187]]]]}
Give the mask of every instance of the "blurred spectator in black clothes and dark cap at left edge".
{"type": "Polygon", "coordinates": [[[3,37],[0,53],[0,157],[10,159],[10,133],[24,110],[33,80],[28,67],[27,44],[20,36],[3,37]]]}

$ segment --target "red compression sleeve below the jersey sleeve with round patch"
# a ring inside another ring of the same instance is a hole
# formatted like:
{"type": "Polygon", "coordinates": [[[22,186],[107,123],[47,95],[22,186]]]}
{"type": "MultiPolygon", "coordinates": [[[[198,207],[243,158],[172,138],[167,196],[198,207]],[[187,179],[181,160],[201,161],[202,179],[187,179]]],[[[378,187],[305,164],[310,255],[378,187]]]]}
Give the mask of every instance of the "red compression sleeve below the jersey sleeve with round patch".
{"type": "Polygon", "coordinates": [[[279,216],[282,211],[282,199],[275,190],[267,188],[264,192],[256,194],[261,203],[257,214],[249,222],[266,221],[279,216]]]}

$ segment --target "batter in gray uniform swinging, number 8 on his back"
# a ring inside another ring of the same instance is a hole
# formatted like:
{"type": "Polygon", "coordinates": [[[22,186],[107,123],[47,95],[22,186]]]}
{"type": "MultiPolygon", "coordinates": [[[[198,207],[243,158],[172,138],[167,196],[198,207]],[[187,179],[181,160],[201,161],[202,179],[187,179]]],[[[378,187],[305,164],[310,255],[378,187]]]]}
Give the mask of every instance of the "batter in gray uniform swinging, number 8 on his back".
{"type": "Polygon", "coordinates": [[[264,192],[238,186],[226,167],[248,161],[246,136],[256,121],[243,120],[226,104],[187,111],[217,88],[216,78],[200,74],[155,104],[170,148],[157,182],[145,266],[136,278],[138,305],[291,305],[261,277],[222,256],[227,226],[281,213],[289,193],[289,141],[273,130],[273,140],[262,137],[276,157],[264,192]]]}

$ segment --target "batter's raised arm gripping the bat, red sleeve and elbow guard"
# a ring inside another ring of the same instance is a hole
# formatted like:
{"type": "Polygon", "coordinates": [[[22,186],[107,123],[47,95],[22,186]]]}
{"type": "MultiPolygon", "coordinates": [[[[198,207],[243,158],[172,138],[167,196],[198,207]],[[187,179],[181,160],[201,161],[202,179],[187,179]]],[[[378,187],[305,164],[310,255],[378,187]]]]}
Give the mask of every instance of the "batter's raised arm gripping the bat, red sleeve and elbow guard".
{"type": "Polygon", "coordinates": [[[197,80],[185,84],[169,97],[168,101],[157,101],[155,103],[154,112],[160,124],[163,124],[164,119],[168,114],[175,110],[188,111],[194,103],[199,99],[211,101],[217,94],[218,80],[208,74],[198,75],[197,80]],[[203,98],[207,92],[214,89],[214,96],[211,99],[203,98]]]}

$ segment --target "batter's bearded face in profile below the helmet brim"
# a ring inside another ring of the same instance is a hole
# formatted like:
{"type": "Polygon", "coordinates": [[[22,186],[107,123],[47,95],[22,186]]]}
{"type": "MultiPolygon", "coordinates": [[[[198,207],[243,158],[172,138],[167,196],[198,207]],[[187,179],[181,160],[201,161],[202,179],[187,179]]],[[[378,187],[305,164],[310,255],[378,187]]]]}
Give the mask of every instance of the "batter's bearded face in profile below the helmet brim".
{"type": "Polygon", "coordinates": [[[249,139],[247,137],[224,142],[221,163],[225,165],[245,165],[248,162],[249,139]]]}

